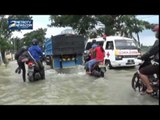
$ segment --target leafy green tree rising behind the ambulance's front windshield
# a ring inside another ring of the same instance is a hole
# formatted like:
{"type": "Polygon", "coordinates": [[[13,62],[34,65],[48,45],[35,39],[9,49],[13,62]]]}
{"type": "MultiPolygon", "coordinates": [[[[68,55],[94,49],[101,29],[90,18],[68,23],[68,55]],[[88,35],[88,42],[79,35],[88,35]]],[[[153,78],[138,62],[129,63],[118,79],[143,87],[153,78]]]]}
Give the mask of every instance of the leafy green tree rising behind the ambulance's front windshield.
{"type": "Polygon", "coordinates": [[[116,31],[120,32],[121,36],[133,38],[140,46],[139,32],[145,29],[151,29],[152,24],[137,19],[136,15],[120,15],[117,16],[114,27],[116,31]],[[137,39],[133,34],[136,34],[137,39]]]}

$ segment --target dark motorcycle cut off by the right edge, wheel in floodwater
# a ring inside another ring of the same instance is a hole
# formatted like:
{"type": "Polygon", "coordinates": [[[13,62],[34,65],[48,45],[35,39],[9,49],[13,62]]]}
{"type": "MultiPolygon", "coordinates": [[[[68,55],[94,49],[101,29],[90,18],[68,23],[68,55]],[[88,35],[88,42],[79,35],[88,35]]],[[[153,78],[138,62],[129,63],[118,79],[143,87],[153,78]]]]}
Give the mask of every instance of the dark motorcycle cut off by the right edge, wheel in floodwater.
{"type": "MultiPolygon", "coordinates": [[[[143,61],[142,64],[139,65],[138,70],[134,73],[131,81],[132,88],[134,91],[138,91],[139,93],[143,94],[145,93],[147,87],[144,85],[144,83],[140,80],[139,77],[139,70],[149,64],[158,64],[157,62],[153,61],[151,58],[148,60],[143,61]]],[[[152,97],[159,98],[159,83],[158,83],[158,77],[156,74],[148,75],[148,78],[150,80],[150,84],[153,88],[153,92],[150,94],[152,97]]]]}

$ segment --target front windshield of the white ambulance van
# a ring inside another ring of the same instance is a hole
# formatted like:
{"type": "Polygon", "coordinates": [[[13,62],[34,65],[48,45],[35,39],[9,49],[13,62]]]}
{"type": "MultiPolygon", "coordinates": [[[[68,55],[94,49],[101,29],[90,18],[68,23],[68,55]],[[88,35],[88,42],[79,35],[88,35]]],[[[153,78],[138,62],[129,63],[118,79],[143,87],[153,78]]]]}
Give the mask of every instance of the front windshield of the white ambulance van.
{"type": "Polygon", "coordinates": [[[133,40],[115,40],[116,49],[137,49],[133,40]]]}

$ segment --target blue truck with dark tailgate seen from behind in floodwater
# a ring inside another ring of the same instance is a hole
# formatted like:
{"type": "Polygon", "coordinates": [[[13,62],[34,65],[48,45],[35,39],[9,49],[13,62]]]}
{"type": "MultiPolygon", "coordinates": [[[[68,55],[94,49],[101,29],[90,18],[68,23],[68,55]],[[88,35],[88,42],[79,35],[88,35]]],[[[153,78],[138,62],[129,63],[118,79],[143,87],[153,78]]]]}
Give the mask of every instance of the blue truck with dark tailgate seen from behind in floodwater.
{"type": "Polygon", "coordinates": [[[47,38],[44,43],[45,61],[53,69],[83,64],[86,39],[77,34],[60,34],[47,38]]]}

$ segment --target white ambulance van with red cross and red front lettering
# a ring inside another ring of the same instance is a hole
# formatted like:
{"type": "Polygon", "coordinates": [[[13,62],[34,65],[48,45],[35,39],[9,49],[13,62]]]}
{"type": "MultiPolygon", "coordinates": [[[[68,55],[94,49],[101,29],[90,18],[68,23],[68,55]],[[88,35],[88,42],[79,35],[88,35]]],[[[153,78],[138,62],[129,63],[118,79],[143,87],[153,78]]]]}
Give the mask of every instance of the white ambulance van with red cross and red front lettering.
{"type": "Polygon", "coordinates": [[[105,64],[112,67],[136,66],[141,63],[137,59],[140,56],[135,41],[131,38],[121,36],[108,36],[106,40],[102,37],[89,39],[86,42],[85,50],[91,48],[92,41],[103,46],[105,50],[105,64]]]}

